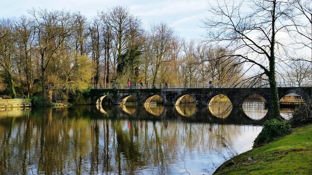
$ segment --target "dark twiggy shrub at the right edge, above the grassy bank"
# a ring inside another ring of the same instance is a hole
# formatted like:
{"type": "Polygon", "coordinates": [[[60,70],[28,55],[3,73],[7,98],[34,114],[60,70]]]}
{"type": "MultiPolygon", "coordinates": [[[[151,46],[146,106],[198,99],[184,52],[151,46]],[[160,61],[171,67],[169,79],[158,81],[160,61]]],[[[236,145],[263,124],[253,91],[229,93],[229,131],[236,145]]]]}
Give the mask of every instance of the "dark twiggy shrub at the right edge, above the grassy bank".
{"type": "Polygon", "coordinates": [[[312,100],[296,107],[293,116],[288,121],[293,128],[312,123],[312,100]]]}

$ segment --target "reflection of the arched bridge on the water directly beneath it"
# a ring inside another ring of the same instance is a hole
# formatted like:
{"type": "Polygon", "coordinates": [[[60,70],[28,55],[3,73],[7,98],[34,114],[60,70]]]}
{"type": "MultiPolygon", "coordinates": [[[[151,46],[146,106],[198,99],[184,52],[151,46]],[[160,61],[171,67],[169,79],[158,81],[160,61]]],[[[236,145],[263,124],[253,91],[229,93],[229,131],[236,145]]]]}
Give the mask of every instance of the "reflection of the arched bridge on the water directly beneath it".
{"type": "MultiPolygon", "coordinates": [[[[135,104],[102,106],[97,105],[97,110],[105,116],[118,118],[146,118],[161,120],[163,118],[193,121],[212,122],[222,124],[252,124],[261,125],[267,119],[271,119],[264,102],[244,102],[242,108],[236,108],[230,102],[214,102],[207,107],[195,105],[164,106],[161,104],[150,104],[137,106],[135,104]]],[[[291,116],[292,109],[285,111],[281,109],[282,116],[291,116]],[[285,113],[286,112],[286,113],[285,113]]],[[[287,119],[287,117],[285,117],[287,119]]]]}

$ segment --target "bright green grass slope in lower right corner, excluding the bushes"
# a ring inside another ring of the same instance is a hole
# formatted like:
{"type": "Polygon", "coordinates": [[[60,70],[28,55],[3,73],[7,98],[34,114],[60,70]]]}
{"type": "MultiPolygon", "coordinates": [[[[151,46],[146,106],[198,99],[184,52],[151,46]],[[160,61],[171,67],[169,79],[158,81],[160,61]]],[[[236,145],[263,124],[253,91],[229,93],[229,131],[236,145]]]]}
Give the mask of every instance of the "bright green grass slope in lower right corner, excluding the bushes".
{"type": "Polygon", "coordinates": [[[311,175],[312,124],[223,163],[214,175],[311,175]]]}

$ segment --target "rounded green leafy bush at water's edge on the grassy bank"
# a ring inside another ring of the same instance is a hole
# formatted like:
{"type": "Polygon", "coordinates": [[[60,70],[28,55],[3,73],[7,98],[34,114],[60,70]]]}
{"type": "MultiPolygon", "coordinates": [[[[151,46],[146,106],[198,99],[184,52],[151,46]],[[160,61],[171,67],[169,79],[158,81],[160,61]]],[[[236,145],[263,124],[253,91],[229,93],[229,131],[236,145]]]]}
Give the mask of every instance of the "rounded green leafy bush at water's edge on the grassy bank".
{"type": "Polygon", "coordinates": [[[275,138],[284,136],[291,131],[291,125],[286,121],[278,119],[267,120],[263,124],[263,129],[254,141],[253,147],[263,146],[275,138]]]}

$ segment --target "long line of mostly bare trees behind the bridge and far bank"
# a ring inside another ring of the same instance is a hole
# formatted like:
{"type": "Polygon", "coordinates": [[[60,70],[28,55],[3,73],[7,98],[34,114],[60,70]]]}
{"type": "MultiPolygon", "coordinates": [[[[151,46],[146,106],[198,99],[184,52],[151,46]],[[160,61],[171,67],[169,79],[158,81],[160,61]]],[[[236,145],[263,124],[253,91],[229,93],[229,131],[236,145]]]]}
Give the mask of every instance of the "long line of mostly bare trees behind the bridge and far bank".
{"type": "Polygon", "coordinates": [[[45,98],[52,85],[55,97],[66,100],[91,84],[128,80],[226,86],[241,76],[235,59],[216,59],[227,49],[185,41],[164,22],[146,30],[124,6],[92,19],[64,10],[28,13],[0,20],[0,89],[12,97],[45,98]]]}

